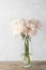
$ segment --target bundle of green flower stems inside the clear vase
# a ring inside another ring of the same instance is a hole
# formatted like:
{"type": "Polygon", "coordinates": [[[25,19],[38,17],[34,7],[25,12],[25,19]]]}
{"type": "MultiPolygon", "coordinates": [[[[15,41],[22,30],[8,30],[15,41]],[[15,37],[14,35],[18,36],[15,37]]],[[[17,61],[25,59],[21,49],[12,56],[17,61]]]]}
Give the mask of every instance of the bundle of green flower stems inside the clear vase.
{"type": "Polygon", "coordinates": [[[25,60],[27,61],[27,64],[30,64],[29,40],[27,37],[25,39],[25,60]]]}

